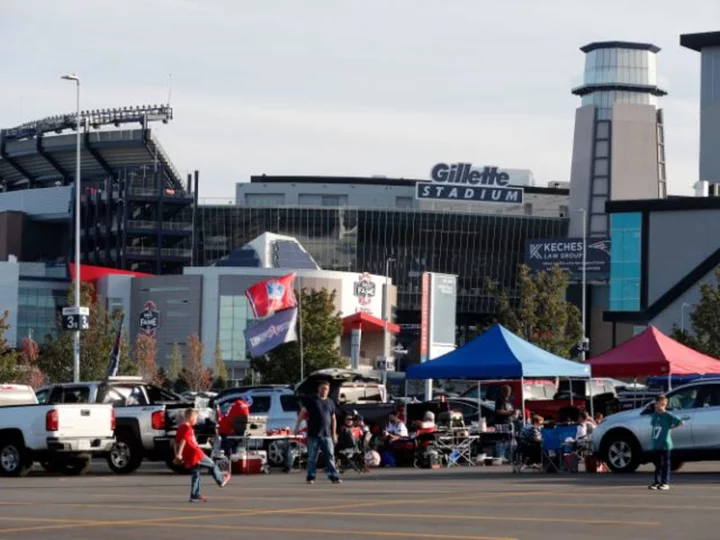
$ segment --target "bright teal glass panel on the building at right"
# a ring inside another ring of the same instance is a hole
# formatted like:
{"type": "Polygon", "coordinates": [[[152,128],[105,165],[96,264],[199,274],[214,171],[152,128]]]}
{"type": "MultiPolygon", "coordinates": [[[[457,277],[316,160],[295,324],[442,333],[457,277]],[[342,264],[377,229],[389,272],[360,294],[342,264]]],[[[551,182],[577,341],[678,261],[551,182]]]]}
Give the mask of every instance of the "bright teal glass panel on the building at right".
{"type": "Polygon", "coordinates": [[[612,214],[610,231],[610,311],[639,311],[642,215],[612,214]]]}

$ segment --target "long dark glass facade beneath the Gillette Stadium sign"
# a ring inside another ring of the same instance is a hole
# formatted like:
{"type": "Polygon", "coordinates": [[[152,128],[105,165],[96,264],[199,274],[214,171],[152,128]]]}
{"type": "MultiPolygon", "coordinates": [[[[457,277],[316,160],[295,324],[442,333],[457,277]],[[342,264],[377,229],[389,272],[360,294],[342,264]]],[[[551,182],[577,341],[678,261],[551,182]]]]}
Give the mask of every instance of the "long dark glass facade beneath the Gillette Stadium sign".
{"type": "Polygon", "coordinates": [[[518,265],[524,261],[525,241],[566,237],[568,229],[567,218],[409,209],[201,206],[198,210],[198,264],[203,266],[264,232],[295,237],[324,270],[383,275],[386,259],[394,258],[390,272],[398,286],[400,322],[414,322],[403,316],[404,311],[420,310],[424,271],[458,276],[459,324],[464,315],[468,321],[491,314],[487,281],[513,287],[518,265]]]}

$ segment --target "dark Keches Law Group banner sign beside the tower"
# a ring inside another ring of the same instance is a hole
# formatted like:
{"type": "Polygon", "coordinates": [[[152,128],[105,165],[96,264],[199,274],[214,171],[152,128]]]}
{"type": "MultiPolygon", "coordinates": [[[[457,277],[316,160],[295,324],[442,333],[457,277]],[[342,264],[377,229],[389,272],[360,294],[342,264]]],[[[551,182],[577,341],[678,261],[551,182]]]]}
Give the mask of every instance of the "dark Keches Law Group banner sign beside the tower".
{"type": "MultiPolygon", "coordinates": [[[[585,272],[587,279],[606,280],[610,275],[610,239],[588,238],[585,272]]],[[[525,264],[531,270],[550,270],[556,264],[582,279],[582,238],[552,238],[525,242],[525,264]]]]}

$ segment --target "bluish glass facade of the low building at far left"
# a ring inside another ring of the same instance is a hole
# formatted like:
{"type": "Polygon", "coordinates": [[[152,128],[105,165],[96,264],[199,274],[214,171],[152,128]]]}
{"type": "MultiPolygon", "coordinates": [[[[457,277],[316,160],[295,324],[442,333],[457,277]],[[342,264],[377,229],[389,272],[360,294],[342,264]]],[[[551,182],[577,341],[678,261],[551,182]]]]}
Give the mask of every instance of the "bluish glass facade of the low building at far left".
{"type": "Polygon", "coordinates": [[[54,335],[58,312],[68,305],[67,284],[57,289],[33,286],[32,283],[21,282],[18,290],[18,343],[32,335],[38,343],[45,336],[54,335]]]}

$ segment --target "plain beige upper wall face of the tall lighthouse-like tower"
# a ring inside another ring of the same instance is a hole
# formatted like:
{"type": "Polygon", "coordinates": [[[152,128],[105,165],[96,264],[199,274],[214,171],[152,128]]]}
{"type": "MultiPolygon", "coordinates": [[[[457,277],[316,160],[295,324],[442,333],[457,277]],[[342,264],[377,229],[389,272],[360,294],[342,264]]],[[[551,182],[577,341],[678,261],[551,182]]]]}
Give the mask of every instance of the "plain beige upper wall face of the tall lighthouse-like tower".
{"type": "Polygon", "coordinates": [[[615,103],[612,118],[612,200],[660,196],[657,109],[652,105],[615,103]]]}

